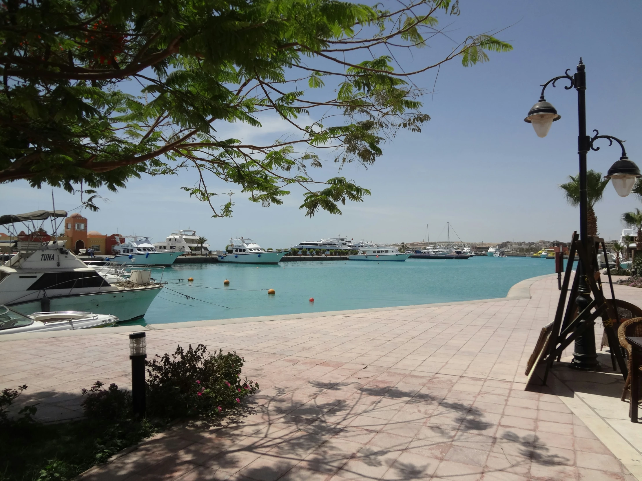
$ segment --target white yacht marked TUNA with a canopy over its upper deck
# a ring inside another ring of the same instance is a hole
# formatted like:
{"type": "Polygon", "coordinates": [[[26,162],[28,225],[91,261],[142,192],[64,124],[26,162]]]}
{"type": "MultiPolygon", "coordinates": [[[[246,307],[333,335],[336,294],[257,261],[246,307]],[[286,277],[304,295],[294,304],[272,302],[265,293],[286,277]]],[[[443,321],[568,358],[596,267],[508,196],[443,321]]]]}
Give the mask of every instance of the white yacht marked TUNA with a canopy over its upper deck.
{"type": "MultiPolygon", "coordinates": [[[[64,218],[67,212],[40,210],[3,215],[0,225],[49,217],[64,218]]],[[[35,312],[82,311],[129,321],[143,317],[163,287],[149,282],[149,276],[145,282],[140,281],[149,271],[139,271],[136,282],[110,284],[67,250],[64,241],[17,242],[17,249],[10,260],[0,264],[0,305],[27,316],[35,312]]]]}

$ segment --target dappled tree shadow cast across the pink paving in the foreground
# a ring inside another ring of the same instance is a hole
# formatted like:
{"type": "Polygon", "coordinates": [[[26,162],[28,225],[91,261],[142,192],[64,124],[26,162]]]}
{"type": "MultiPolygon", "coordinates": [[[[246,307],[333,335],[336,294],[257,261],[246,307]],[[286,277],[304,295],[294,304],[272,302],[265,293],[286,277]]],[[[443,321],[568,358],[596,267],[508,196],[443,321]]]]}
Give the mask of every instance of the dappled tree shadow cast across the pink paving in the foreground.
{"type": "Polygon", "coordinates": [[[248,411],[242,423],[184,426],[141,449],[205,466],[219,477],[236,473],[252,480],[308,480],[335,473],[364,480],[426,479],[453,446],[483,455],[470,466],[471,475],[529,469],[530,463],[569,464],[535,435],[508,429],[495,435],[492,416],[429,389],[312,381],[303,391],[305,396],[297,389],[273,388],[265,398],[259,392],[256,404],[248,405],[253,414],[248,411]],[[505,467],[483,468],[489,455],[505,457],[505,467]]]}

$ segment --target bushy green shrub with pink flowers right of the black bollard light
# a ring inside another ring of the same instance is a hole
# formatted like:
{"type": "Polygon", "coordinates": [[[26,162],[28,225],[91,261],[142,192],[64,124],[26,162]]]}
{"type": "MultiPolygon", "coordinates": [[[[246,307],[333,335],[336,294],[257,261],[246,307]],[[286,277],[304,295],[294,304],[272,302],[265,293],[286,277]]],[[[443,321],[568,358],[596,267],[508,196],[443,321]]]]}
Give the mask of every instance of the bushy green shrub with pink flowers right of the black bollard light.
{"type": "Polygon", "coordinates": [[[218,416],[259,389],[241,379],[243,358],[234,353],[207,353],[207,347],[178,346],[172,355],[147,363],[148,412],[159,418],[218,416]]]}

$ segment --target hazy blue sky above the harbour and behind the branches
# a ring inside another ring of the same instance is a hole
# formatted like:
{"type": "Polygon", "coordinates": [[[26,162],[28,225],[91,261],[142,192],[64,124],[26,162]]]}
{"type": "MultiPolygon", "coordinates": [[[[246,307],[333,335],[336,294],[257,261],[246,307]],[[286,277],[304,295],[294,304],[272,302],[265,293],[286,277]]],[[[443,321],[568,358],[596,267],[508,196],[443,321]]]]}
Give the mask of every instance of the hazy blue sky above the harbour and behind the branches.
{"type": "MultiPolygon", "coordinates": [[[[259,239],[264,247],[281,248],[303,240],[348,235],[378,242],[444,240],[450,221],[465,241],[566,241],[578,226],[578,212],[569,207],[558,185],[577,167],[577,95],[575,90],[547,89],[547,100],[562,119],[545,139],[523,122],[539,98],[539,84],[568,68],[580,56],[587,69],[587,127],[621,139],[629,157],[642,166],[640,94],[642,40],[639,1],[471,1],[462,0],[459,17],[442,17],[449,35],[466,35],[508,27],[498,34],[514,46],[492,54],[490,62],[464,68],[451,62],[440,71],[433,96],[424,97],[432,120],[422,133],[403,133],[384,146],[382,158],[368,170],[349,167],[343,175],[372,190],[364,203],[342,207],[343,215],[299,210],[300,191],[285,205],[263,208],[236,194],[232,219],[211,219],[206,205],[180,190],[193,185],[191,174],[132,180],[98,213],[83,212],[89,228],[101,233],[150,235],[164,239],[175,229],[193,228],[221,249],[230,235],[259,239]],[[442,232],[440,239],[438,234],[442,232]]],[[[454,47],[438,40],[415,51],[412,65],[425,65],[454,47]]],[[[410,67],[410,58],[404,67],[410,67]]],[[[432,89],[434,72],[417,79],[432,89]]],[[[261,132],[233,126],[234,137],[272,140],[281,135],[279,122],[264,122],[261,132]],[[245,133],[243,133],[245,132],[245,133]]],[[[589,153],[589,168],[606,173],[619,158],[604,142],[589,153]]],[[[336,169],[324,169],[328,178],[336,169]],[[334,171],[333,171],[334,169],[334,171]]],[[[226,187],[218,185],[216,191],[226,187]]],[[[230,185],[227,189],[237,190],[230,185]]],[[[56,208],[80,204],[78,196],[55,189],[56,208]]],[[[50,208],[51,190],[34,190],[26,182],[0,186],[0,214],[50,208]]],[[[222,201],[220,203],[223,203],[222,201]]],[[[620,198],[609,185],[596,205],[598,228],[605,238],[620,235],[622,212],[642,207],[634,196],[620,198]]]]}

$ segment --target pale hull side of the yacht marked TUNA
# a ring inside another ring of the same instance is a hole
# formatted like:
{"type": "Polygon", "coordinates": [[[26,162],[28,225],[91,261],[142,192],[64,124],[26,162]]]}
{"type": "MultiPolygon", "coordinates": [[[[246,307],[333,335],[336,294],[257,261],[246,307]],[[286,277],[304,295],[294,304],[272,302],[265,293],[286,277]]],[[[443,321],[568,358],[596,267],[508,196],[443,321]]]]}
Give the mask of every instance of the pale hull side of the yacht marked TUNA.
{"type": "MultiPolygon", "coordinates": [[[[159,285],[158,287],[141,287],[124,291],[51,296],[49,297],[49,310],[82,310],[94,314],[109,314],[118,317],[121,321],[130,321],[145,315],[160,289],[162,286],[159,285]]],[[[27,316],[42,311],[40,300],[7,303],[7,306],[27,316]]]]}

